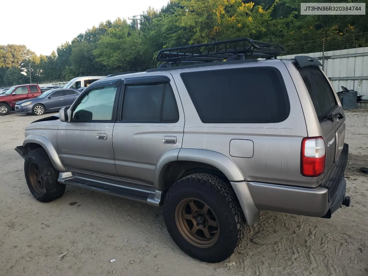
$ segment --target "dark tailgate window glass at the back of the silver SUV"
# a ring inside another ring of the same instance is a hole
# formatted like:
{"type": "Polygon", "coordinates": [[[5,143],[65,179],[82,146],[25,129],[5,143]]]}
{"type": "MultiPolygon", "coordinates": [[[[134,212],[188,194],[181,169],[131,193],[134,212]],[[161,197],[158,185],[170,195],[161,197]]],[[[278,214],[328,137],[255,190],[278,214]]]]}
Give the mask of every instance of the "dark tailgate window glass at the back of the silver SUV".
{"type": "Polygon", "coordinates": [[[299,68],[299,72],[307,86],[317,116],[321,119],[337,106],[333,90],[319,68],[299,68]]]}

